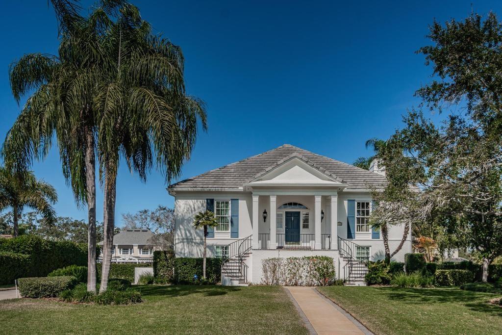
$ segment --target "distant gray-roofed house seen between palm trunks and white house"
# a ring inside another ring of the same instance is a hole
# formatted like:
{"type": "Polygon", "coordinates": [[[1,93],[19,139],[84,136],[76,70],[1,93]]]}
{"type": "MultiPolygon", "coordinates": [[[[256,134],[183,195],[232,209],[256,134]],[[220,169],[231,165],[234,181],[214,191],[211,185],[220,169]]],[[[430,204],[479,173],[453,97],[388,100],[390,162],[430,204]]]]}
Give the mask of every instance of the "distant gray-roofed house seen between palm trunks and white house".
{"type": "MultiPolygon", "coordinates": [[[[102,246],[103,241],[98,245],[102,246]]],[[[152,263],[156,248],[155,234],[148,229],[128,229],[113,236],[113,263],[152,263]]],[[[102,261],[102,255],[98,262],[102,261]]]]}

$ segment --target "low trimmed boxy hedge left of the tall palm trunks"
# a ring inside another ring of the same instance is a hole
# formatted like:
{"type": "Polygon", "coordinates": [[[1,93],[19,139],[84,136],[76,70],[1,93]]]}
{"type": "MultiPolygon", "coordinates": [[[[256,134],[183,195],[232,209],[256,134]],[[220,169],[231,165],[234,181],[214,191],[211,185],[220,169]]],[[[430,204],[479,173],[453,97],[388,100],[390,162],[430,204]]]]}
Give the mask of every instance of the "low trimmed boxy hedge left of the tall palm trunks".
{"type": "Polygon", "coordinates": [[[61,292],[72,289],[77,283],[75,277],[33,277],[19,278],[19,293],[27,298],[57,297],[61,292]]]}

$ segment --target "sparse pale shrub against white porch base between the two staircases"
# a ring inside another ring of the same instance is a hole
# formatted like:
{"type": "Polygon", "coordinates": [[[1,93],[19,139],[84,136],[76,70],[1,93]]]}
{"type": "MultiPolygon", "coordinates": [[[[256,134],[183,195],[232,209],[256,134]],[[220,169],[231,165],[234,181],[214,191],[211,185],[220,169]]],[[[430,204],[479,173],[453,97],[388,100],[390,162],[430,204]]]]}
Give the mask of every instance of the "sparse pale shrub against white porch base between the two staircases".
{"type": "Polygon", "coordinates": [[[333,258],[327,256],[264,259],[262,270],[265,285],[326,286],[335,280],[333,258]]]}

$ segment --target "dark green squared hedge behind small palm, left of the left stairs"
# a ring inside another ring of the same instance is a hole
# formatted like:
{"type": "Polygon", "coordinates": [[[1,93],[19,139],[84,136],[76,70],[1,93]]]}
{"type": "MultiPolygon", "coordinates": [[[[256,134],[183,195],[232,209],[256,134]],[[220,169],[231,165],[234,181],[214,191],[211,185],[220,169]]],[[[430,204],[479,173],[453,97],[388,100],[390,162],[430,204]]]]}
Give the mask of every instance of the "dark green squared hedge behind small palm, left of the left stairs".
{"type": "Polygon", "coordinates": [[[154,252],[154,281],[160,284],[200,284],[221,281],[221,259],[206,259],[206,280],[202,280],[202,258],[175,257],[172,251],[154,252]]]}

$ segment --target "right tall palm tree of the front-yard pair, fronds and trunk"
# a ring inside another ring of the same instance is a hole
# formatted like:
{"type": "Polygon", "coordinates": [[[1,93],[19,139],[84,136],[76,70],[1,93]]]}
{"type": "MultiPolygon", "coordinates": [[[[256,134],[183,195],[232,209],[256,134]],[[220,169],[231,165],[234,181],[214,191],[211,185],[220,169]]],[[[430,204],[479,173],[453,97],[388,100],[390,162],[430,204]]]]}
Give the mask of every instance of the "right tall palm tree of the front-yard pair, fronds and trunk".
{"type": "Polygon", "coordinates": [[[107,66],[94,100],[100,116],[97,152],[104,183],[101,292],[107,288],[111,263],[120,158],[143,181],[156,160],[169,181],[190,158],[198,122],[206,129],[203,103],[185,94],[180,48],[152,36],[136,7],[123,5],[102,38],[107,66]]]}

